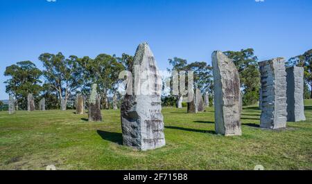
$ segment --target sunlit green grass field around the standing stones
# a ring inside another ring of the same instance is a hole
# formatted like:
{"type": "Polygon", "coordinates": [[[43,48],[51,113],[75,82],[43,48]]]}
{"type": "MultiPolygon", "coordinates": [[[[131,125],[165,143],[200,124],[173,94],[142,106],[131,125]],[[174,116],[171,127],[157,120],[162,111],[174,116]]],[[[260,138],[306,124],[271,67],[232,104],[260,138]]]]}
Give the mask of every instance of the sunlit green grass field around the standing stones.
{"type": "Polygon", "coordinates": [[[135,151],[122,145],[120,111],[103,122],[74,111],[0,112],[0,169],[312,169],[312,101],[306,122],[259,128],[260,111],[245,107],[243,136],[214,132],[214,109],[187,114],[164,108],[166,146],[135,151]]]}

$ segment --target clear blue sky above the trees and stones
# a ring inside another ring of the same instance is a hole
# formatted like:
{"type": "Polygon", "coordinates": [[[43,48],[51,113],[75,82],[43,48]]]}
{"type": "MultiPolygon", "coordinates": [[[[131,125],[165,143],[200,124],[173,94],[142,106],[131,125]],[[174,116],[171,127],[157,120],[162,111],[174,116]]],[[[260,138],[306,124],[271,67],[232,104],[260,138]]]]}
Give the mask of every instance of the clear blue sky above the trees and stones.
{"type": "Polygon", "coordinates": [[[211,63],[213,50],[254,48],[260,60],[312,48],[311,0],[1,0],[0,99],[6,66],[41,53],[128,53],[150,44],[159,68],[167,59],[211,63]]]}

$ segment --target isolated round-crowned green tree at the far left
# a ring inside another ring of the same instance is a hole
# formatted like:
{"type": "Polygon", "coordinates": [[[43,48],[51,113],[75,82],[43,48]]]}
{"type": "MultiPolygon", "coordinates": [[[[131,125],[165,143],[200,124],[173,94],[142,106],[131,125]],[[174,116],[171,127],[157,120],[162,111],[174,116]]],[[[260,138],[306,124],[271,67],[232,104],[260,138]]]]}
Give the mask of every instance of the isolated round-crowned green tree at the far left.
{"type": "Polygon", "coordinates": [[[4,82],[6,93],[15,96],[19,109],[26,109],[28,93],[33,93],[34,98],[37,98],[42,91],[40,86],[42,72],[31,61],[17,62],[6,67],[4,75],[10,77],[4,82]]]}

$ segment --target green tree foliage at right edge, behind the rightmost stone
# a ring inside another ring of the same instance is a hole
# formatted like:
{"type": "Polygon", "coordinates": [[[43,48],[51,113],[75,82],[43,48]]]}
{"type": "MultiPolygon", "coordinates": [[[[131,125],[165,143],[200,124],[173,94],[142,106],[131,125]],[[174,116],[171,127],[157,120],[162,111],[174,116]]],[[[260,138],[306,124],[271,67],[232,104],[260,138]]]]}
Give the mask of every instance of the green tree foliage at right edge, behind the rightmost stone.
{"type": "MultiPolygon", "coordinates": [[[[312,49],[307,50],[302,55],[291,57],[291,59],[289,59],[286,63],[286,66],[304,67],[304,80],[306,84],[309,84],[309,86],[312,87],[312,49]]],[[[312,98],[312,91],[310,98],[312,98]]]]}

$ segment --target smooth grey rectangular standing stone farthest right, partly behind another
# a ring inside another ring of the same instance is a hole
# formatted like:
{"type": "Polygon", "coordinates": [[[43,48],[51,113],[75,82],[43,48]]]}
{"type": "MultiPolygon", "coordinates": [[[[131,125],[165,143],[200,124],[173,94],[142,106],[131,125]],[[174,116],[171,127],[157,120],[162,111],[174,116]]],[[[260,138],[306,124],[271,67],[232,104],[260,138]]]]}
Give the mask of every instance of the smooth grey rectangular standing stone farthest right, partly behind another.
{"type": "Polygon", "coordinates": [[[304,116],[304,68],[286,68],[287,73],[287,121],[306,120],[304,116]]]}

